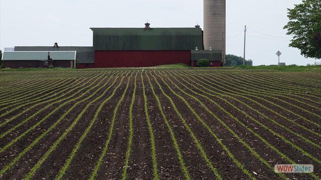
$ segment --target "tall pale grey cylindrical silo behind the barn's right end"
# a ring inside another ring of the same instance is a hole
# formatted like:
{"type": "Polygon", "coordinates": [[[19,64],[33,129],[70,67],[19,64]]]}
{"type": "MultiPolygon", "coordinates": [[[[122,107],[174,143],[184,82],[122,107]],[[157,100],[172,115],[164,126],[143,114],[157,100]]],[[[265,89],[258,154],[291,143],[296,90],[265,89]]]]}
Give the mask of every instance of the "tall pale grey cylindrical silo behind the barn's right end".
{"type": "Polygon", "coordinates": [[[204,0],[204,49],[222,50],[225,64],[226,0],[204,0]]]}

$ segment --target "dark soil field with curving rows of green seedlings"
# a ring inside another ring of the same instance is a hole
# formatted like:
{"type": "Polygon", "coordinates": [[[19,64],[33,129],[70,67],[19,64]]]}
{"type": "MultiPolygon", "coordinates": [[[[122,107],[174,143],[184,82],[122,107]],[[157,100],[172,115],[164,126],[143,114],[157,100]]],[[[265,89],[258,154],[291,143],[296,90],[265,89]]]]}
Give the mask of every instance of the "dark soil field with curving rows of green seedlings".
{"type": "Polygon", "coordinates": [[[321,73],[0,71],[0,179],[288,178],[321,178],[321,73]]]}

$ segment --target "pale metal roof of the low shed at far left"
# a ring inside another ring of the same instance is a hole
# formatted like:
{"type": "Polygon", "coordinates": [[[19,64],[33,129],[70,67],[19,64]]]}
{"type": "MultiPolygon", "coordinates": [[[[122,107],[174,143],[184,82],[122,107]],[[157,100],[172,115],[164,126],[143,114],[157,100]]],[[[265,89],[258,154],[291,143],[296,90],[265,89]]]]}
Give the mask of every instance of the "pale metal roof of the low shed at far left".
{"type": "MultiPolygon", "coordinates": [[[[50,51],[53,60],[75,60],[76,51],[50,51]]],[[[47,60],[48,51],[4,51],[3,60],[47,60]]]]}

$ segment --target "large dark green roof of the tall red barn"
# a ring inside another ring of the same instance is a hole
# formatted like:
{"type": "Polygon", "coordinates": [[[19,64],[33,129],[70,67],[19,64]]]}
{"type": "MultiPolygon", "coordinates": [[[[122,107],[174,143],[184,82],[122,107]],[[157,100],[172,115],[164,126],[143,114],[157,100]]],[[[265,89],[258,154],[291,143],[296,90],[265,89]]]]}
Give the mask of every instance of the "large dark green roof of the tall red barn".
{"type": "Polygon", "coordinates": [[[90,28],[95,50],[203,49],[201,28],[90,28]]]}

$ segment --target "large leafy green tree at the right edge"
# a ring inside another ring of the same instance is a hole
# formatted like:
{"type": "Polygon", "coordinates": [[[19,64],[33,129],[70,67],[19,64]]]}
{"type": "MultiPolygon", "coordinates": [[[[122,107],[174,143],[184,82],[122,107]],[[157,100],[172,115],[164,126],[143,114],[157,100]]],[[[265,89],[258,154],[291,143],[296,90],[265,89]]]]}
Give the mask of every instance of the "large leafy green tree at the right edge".
{"type": "Polygon", "coordinates": [[[302,0],[293,9],[287,9],[289,22],[283,27],[293,35],[290,47],[300,49],[304,57],[321,58],[318,43],[321,32],[321,0],[302,0]]]}

